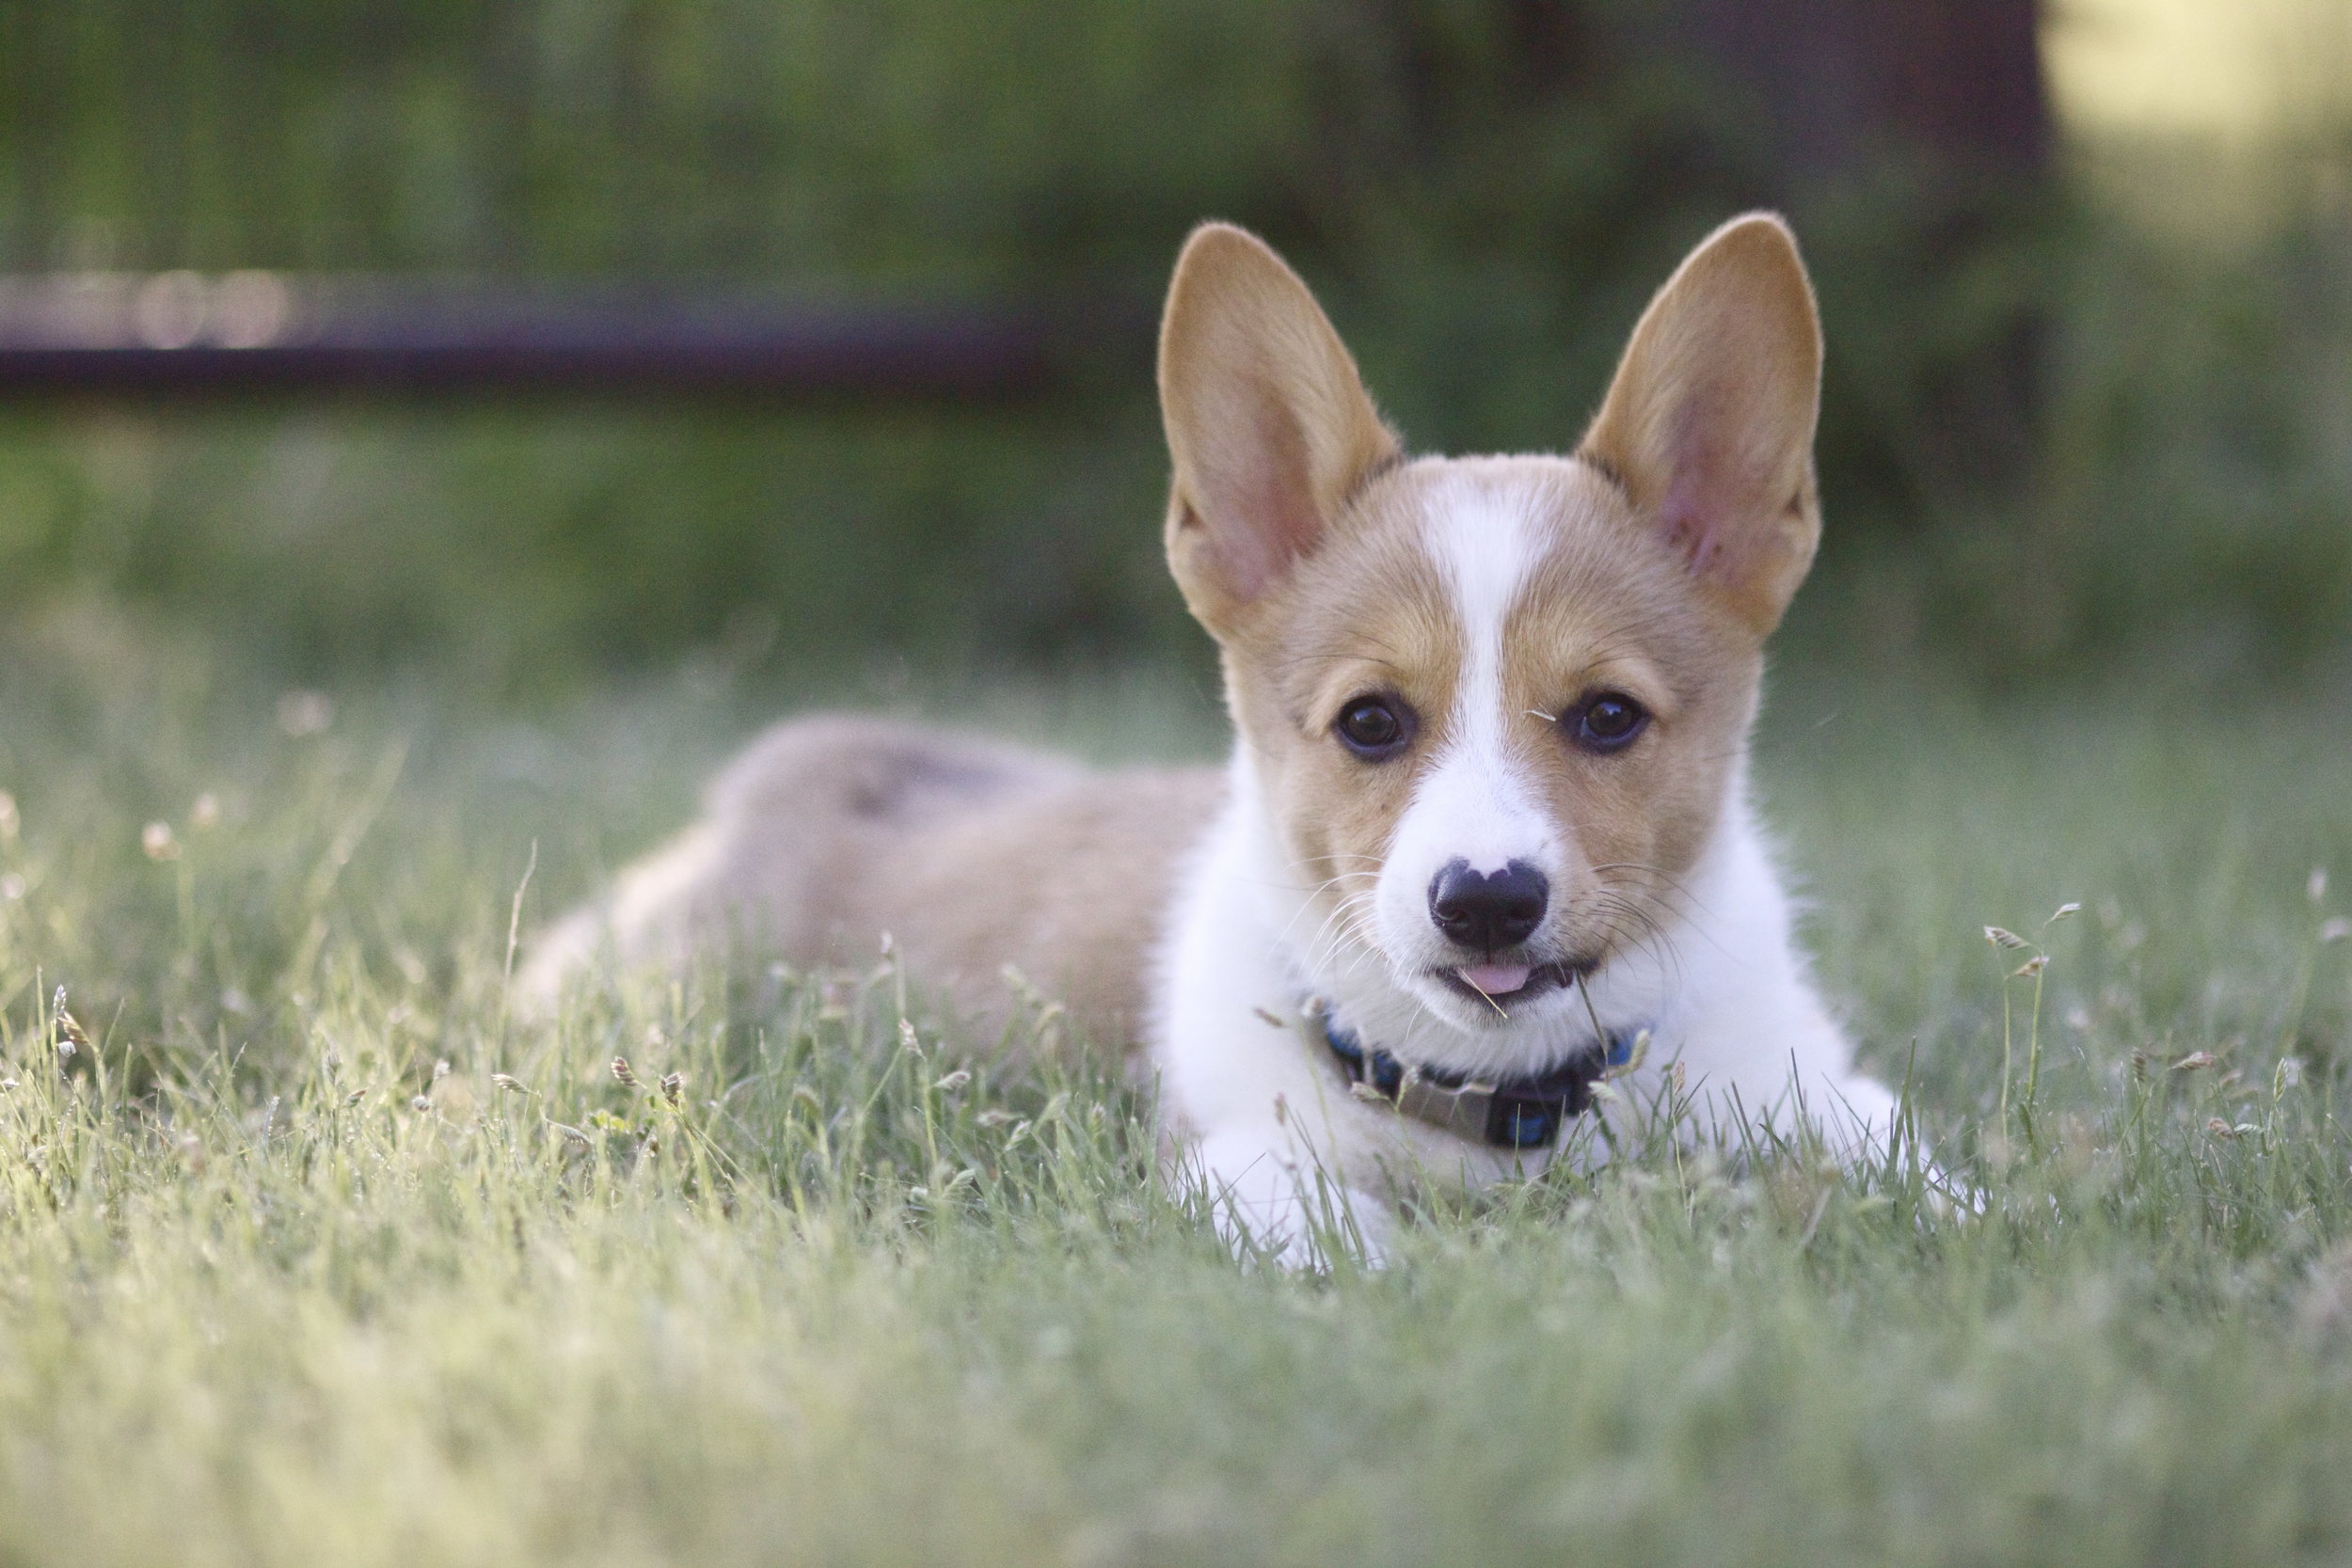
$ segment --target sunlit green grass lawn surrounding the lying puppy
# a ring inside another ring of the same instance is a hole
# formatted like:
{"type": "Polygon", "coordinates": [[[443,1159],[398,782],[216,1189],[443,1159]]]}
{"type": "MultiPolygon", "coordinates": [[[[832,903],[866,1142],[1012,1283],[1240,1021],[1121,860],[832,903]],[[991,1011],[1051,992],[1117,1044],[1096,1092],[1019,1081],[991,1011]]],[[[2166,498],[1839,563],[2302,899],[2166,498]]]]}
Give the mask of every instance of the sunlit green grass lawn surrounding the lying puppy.
{"type": "MultiPolygon", "coordinates": [[[[99,618],[0,663],[0,1561],[2352,1554],[2343,689],[1785,679],[1823,976],[1983,1218],[1658,1157],[1329,1276],[1228,1260],[1117,1084],[953,1081],[887,966],[506,1016],[517,889],[760,703],[275,696],[99,618]],[[1985,924],[2051,952],[2006,1128],[1985,924]]],[[[1216,745],[1174,679],[929,698],[1216,745]]]]}

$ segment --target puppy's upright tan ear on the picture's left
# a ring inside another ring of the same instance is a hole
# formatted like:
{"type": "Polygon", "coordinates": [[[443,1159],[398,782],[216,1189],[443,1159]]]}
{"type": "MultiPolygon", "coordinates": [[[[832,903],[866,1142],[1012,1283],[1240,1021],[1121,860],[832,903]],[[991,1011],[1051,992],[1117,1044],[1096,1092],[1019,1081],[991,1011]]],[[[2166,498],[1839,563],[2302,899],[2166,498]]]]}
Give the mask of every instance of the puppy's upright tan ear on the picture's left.
{"type": "Polygon", "coordinates": [[[1169,569],[1214,635],[1282,585],[1374,470],[1397,458],[1355,360],[1258,237],[1202,223],[1160,322],[1176,465],[1169,569]]]}

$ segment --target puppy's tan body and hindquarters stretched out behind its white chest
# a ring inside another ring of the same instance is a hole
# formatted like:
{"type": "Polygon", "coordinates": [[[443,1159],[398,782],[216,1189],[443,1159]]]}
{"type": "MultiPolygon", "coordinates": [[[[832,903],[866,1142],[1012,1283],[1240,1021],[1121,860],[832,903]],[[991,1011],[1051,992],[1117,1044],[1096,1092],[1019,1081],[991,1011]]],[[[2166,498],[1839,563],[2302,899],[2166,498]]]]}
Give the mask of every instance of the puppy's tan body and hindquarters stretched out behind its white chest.
{"type": "Polygon", "coordinates": [[[597,954],[863,969],[889,933],[967,1037],[1009,1020],[1011,964],[1077,1037],[1124,1051],[1174,860],[1221,788],[1207,769],[1087,773],[880,719],[781,724],[720,776],[696,827],[536,943],[522,990],[553,1001],[597,954]]]}

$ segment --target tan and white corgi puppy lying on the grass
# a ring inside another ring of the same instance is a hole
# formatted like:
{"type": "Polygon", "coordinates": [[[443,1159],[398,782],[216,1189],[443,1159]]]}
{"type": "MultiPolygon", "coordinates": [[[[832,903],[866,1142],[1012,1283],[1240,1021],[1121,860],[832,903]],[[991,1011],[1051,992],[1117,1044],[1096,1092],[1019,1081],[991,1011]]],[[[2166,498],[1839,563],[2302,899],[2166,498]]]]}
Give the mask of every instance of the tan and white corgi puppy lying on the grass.
{"type": "Polygon", "coordinates": [[[1185,244],[1160,339],[1167,555],[1218,644],[1223,771],[1089,773],[847,717],[783,724],[684,839],[560,924],[910,973],[978,1030],[1007,966],[1155,1077],[1235,1241],[1378,1255],[1416,1182],[1686,1126],[1884,1150],[1748,804],[1764,639],[1820,538],[1820,329],[1750,214],[1651,301],[1571,456],[1409,458],[1263,242],[1185,244]],[[1616,1093],[1602,1077],[1625,1074],[1616,1093]]]}

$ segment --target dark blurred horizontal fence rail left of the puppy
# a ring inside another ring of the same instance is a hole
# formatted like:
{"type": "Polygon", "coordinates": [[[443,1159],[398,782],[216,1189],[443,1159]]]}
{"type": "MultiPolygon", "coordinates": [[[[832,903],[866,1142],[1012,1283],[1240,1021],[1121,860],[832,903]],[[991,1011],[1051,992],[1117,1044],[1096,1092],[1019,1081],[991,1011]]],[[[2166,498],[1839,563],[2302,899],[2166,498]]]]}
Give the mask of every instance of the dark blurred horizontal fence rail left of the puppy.
{"type": "Polygon", "coordinates": [[[0,277],[0,397],[696,393],[1002,400],[1101,310],[849,306],[280,273],[0,277]]]}

